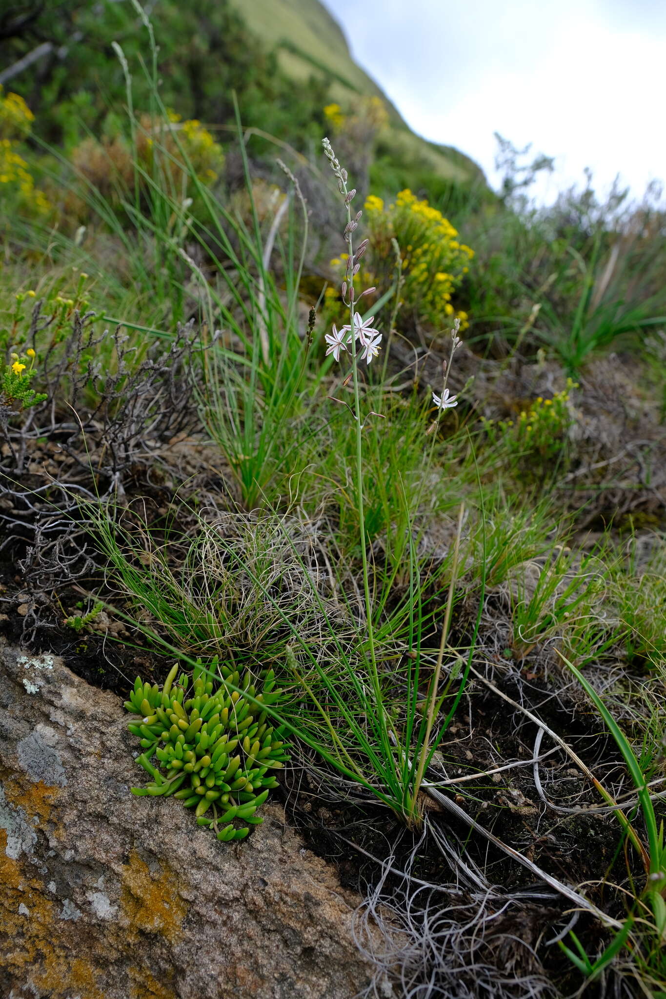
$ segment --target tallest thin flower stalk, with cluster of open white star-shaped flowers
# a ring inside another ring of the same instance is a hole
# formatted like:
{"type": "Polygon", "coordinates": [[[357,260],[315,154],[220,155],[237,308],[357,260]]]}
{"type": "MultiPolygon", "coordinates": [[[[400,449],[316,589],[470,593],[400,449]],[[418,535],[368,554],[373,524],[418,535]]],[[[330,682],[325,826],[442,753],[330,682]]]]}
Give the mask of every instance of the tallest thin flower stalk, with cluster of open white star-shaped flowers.
{"type": "MultiPolygon", "coordinates": [[[[356,497],[358,503],[358,532],[360,540],[360,555],[362,559],[362,574],[363,574],[363,596],[365,601],[365,623],[367,627],[367,647],[370,659],[370,678],[372,682],[372,688],[374,691],[374,697],[376,701],[377,708],[379,710],[380,716],[380,735],[383,747],[390,751],[390,742],[388,738],[388,727],[385,711],[383,710],[381,688],[379,685],[379,674],[377,671],[376,664],[376,650],[374,646],[374,629],[372,626],[372,604],[370,601],[370,587],[369,587],[369,575],[367,567],[367,552],[365,550],[365,511],[363,505],[363,462],[362,462],[362,429],[364,426],[363,421],[361,421],[360,415],[360,393],[358,388],[358,362],[360,360],[365,361],[365,365],[369,365],[372,358],[376,357],[379,352],[379,345],[381,343],[381,334],[372,329],[371,323],[373,320],[372,316],[369,316],[365,321],[363,321],[360,314],[356,311],[356,302],[359,302],[364,296],[370,295],[374,288],[367,288],[365,291],[356,298],[354,289],[354,278],[360,270],[359,261],[365,250],[367,249],[367,240],[363,240],[359,245],[357,250],[354,252],[353,249],[353,234],[358,228],[358,222],[362,215],[362,212],[358,211],[351,217],[351,202],[355,196],[355,190],[348,190],[346,186],[347,173],[343,167],[340,167],[338,160],[335,158],[333,153],[333,147],[329,139],[323,140],[324,153],[329,163],[331,164],[331,169],[333,170],[333,175],[337,181],[337,189],[344,203],[344,208],[346,210],[346,225],[344,227],[344,232],[342,233],[342,238],[346,243],[347,259],[346,259],[346,274],[344,281],[342,282],[341,295],[342,301],[347,306],[349,310],[349,323],[337,330],[333,324],[333,330],[330,334],[327,334],[326,341],[329,344],[329,349],[327,354],[333,354],[335,361],[339,361],[339,356],[342,352],[349,352],[351,355],[351,381],[353,385],[353,409],[350,409],[351,415],[353,417],[353,422],[356,432],[356,497]],[[360,350],[359,350],[360,348],[360,350]]],[[[348,377],[344,380],[345,384],[348,384],[348,377]]],[[[339,402],[339,400],[338,400],[339,402]]],[[[346,405],[346,404],[344,404],[346,405]]],[[[378,414],[372,414],[373,416],[378,416],[378,414]]],[[[388,753],[387,753],[388,755],[388,753]]],[[[391,754],[392,756],[392,754],[391,754]]]]}

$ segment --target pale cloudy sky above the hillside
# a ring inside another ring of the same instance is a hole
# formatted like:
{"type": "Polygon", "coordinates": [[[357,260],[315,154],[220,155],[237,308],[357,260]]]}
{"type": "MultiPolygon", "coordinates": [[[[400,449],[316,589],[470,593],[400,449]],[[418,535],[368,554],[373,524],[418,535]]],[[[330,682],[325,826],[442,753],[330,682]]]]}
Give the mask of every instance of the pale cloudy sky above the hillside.
{"type": "Polygon", "coordinates": [[[556,158],[539,190],[666,180],[666,0],[325,0],[410,127],[496,186],[494,132],[556,158]]]}

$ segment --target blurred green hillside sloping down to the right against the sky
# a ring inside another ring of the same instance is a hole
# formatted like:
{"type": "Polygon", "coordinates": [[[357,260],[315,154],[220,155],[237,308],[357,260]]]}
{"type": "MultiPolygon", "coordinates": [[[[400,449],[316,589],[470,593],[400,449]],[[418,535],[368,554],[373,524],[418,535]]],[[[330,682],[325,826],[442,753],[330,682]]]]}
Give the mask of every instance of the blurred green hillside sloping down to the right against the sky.
{"type": "MultiPolygon", "coordinates": [[[[410,131],[354,62],[319,0],[159,0],[151,11],[162,101],[183,118],[219,130],[223,142],[236,131],[235,95],[244,125],[308,155],[330,130],[326,106],[339,104],[348,115],[374,97],[387,114],[387,124],[372,135],[369,182],[377,193],[411,186],[437,199],[452,187],[487,190],[471,160],[410,131]]],[[[132,73],[134,107],[148,111],[149,36],[129,0],[102,0],[94,8],[87,0],[45,0],[0,38],[0,82],[36,115],[34,134],[71,150],[86,135],[118,129],[126,80],[116,44],[132,73]]],[[[269,149],[257,142],[254,152],[269,149]]]]}

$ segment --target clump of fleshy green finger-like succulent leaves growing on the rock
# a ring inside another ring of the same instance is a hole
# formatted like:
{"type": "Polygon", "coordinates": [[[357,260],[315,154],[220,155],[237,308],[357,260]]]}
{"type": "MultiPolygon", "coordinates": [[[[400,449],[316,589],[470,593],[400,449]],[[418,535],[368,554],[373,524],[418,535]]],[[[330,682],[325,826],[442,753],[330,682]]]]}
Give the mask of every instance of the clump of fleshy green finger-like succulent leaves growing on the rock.
{"type": "Polygon", "coordinates": [[[132,793],[173,794],[194,808],[199,825],[212,826],[218,839],[244,839],[250,825],[263,821],[255,812],[278,786],[274,771],[288,758],[282,728],[273,727],[263,706],[280,697],[275,673],[261,673],[257,693],[252,673],[241,681],[238,670],[217,657],[210,669],[197,663],[192,689],[187,673],[175,682],[178,669],[176,664],[162,689],[137,676],[125,701],[128,711],[140,716],[128,724],[144,750],[137,763],[153,777],[132,793]]]}

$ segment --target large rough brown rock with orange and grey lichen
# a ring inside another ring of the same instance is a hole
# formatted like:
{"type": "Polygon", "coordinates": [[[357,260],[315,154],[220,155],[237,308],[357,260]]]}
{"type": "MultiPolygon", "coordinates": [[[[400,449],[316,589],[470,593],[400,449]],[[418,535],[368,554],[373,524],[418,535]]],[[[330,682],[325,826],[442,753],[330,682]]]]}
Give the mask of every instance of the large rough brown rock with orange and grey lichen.
{"type": "Polygon", "coordinates": [[[231,845],[173,798],[132,795],[126,721],[60,659],[0,647],[0,994],[354,996],[372,974],[359,899],[278,805],[231,845]]]}

